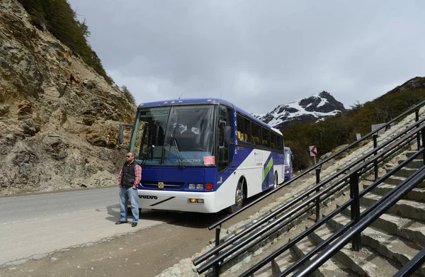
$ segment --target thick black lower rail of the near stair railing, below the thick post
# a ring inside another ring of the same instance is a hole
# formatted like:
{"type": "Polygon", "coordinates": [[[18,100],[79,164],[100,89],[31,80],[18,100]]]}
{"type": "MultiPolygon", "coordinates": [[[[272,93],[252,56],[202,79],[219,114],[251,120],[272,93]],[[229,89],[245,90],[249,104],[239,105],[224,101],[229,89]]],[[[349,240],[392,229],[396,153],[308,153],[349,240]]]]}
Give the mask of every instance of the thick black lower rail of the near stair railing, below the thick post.
{"type": "MultiPolygon", "coordinates": [[[[334,256],[337,251],[341,250],[348,242],[353,239],[354,236],[360,234],[363,230],[365,230],[373,221],[375,221],[378,217],[384,214],[388,209],[392,207],[398,200],[402,199],[404,196],[412,191],[414,187],[421,181],[425,179],[425,166],[422,166],[418,171],[416,171],[411,176],[407,177],[402,183],[400,183],[394,191],[392,195],[386,199],[382,198],[376,201],[372,206],[373,210],[369,213],[367,217],[363,217],[357,225],[351,227],[350,230],[344,235],[344,237],[339,238],[333,244],[330,244],[327,250],[322,251],[320,255],[317,255],[310,261],[308,264],[305,264],[300,268],[299,271],[294,273],[294,277],[304,277],[309,276],[313,273],[319,266],[322,266],[325,261],[334,256]]],[[[279,276],[280,277],[280,276],[279,276]]]]}

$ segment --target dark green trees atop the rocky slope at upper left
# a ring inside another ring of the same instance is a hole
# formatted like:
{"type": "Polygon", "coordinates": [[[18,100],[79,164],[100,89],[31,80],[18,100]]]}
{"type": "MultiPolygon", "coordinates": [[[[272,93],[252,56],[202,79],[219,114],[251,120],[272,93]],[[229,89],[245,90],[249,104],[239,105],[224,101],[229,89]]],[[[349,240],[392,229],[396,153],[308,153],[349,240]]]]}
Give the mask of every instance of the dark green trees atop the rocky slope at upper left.
{"type": "Polygon", "coordinates": [[[18,0],[30,13],[33,24],[50,31],[64,45],[77,53],[86,64],[103,76],[108,84],[113,79],[106,74],[96,52],[87,42],[90,32],[85,22],[77,20],[76,13],[67,0],[18,0]]]}

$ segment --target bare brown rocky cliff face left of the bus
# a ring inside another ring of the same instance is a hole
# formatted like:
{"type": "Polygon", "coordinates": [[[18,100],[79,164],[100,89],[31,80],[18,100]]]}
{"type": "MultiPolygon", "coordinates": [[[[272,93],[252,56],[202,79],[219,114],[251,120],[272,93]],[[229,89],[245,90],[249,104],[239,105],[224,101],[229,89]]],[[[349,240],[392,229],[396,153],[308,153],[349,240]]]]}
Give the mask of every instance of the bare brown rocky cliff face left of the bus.
{"type": "Polygon", "coordinates": [[[0,1],[0,195],[110,186],[136,106],[16,0],[0,1]]]}

